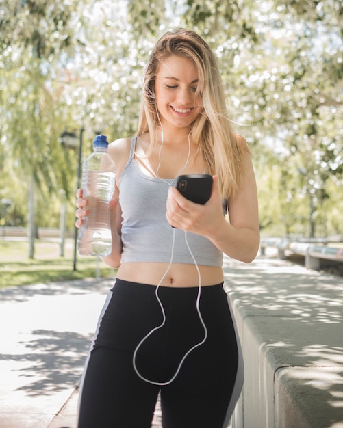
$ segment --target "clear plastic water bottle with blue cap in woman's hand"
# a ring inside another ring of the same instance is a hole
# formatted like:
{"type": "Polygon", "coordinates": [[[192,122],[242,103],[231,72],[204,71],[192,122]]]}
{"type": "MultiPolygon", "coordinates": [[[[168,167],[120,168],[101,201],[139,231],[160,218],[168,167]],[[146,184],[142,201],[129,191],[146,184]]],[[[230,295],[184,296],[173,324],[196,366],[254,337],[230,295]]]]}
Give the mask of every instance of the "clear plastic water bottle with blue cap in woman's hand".
{"type": "Polygon", "coordinates": [[[88,200],[87,217],[79,230],[77,248],[83,256],[108,256],[112,251],[110,200],[116,178],[116,165],[107,154],[107,137],[97,135],[93,152],[82,167],[82,190],[88,200]]]}

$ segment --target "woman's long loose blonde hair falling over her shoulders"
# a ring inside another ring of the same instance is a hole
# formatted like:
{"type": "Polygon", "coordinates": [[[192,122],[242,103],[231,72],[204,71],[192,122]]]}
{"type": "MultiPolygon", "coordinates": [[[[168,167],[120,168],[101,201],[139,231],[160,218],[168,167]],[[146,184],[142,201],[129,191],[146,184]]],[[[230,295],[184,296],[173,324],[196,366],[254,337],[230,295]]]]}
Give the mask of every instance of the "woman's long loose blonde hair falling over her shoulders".
{"type": "Polygon", "coordinates": [[[144,73],[137,134],[149,132],[152,150],[160,124],[155,103],[155,77],[160,62],[171,55],[190,59],[198,72],[196,95],[202,98],[203,112],[192,124],[191,138],[198,145],[207,173],[218,175],[220,194],[228,199],[240,187],[244,177],[244,152],[249,152],[249,148],[243,138],[233,133],[216,57],[194,31],[168,31],[155,44],[144,73]]]}

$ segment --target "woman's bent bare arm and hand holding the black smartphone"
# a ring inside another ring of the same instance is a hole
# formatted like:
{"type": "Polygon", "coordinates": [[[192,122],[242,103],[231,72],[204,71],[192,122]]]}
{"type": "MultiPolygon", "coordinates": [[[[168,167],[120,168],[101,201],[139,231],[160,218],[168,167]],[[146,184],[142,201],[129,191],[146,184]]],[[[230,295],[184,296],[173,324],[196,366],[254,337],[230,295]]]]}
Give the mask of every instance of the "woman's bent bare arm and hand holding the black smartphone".
{"type": "Polygon", "coordinates": [[[259,248],[259,220],[255,174],[248,153],[244,163],[245,178],[236,196],[228,201],[229,222],[223,216],[216,176],[205,205],[193,204],[171,188],[166,218],[177,228],[207,237],[227,256],[250,263],[259,248]]]}

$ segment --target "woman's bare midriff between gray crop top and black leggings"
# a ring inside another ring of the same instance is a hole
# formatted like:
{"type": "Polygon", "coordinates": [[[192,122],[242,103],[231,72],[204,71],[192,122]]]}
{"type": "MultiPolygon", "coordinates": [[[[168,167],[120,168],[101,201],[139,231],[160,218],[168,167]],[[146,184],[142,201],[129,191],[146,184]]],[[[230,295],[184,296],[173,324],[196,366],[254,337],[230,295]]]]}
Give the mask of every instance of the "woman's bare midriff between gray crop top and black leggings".
{"type": "Polygon", "coordinates": [[[219,266],[198,265],[199,273],[195,265],[187,263],[155,263],[136,262],[122,263],[118,269],[117,278],[129,282],[140,282],[157,286],[170,287],[195,287],[199,285],[199,273],[201,286],[210,286],[223,282],[223,269],[219,266]]]}

